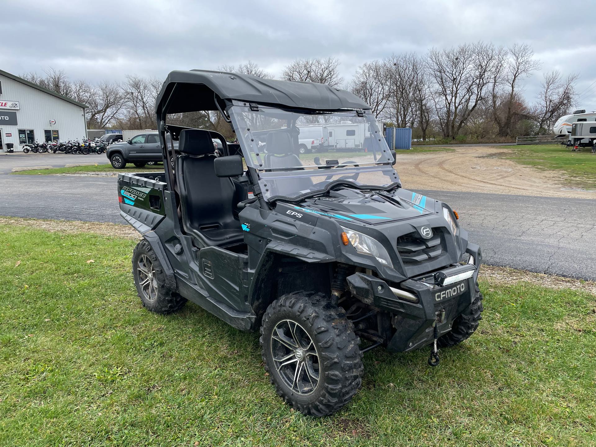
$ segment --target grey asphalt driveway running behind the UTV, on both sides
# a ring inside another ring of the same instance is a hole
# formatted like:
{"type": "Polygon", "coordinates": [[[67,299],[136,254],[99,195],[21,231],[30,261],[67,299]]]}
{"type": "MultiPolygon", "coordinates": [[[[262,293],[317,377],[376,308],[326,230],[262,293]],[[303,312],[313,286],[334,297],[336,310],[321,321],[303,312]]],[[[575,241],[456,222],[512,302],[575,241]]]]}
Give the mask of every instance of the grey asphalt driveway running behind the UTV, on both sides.
{"type": "MultiPolygon", "coordinates": [[[[0,175],[0,190],[0,215],[125,223],[114,177],[0,175]]],[[[460,213],[485,263],[596,280],[594,200],[420,192],[460,213]]]]}

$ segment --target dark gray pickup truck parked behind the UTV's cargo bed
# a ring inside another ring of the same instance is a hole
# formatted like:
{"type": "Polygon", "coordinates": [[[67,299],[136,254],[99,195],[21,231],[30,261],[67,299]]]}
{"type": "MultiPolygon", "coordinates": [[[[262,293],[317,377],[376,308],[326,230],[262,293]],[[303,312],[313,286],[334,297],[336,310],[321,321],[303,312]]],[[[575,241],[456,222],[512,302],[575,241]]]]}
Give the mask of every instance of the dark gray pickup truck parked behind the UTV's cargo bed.
{"type": "MultiPolygon", "coordinates": [[[[178,142],[174,142],[176,146],[178,142]]],[[[126,163],[133,163],[136,167],[145,164],[162,162],[162,145],[157,132],[135,135],[126,142],[114,143],[108,147],[105,155],[114,169],[124,169],[126,163]]]]}

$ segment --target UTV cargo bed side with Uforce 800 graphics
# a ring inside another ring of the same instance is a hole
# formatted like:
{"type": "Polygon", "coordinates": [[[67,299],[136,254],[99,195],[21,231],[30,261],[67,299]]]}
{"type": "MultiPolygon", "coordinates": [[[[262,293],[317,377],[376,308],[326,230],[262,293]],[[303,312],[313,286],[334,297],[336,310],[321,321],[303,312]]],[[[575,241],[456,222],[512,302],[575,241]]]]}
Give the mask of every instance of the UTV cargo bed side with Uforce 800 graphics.
{"type": "Polygon", "coordinates": [[[165,179],[165,172],[118,175],[120,216],[141,234],[156,228],[166,216],[165,179]]]}

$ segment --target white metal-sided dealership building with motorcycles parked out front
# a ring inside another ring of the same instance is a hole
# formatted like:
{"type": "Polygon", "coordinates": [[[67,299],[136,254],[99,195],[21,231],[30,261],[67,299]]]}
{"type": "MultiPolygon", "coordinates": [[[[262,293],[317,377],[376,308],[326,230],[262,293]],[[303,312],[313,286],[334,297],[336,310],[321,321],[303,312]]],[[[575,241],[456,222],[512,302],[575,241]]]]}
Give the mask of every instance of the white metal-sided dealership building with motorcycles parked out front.
{"type": "Polygon", "coordinates": [[[87,135],[85,104],[0,70],[0,147],[87,135]]]}

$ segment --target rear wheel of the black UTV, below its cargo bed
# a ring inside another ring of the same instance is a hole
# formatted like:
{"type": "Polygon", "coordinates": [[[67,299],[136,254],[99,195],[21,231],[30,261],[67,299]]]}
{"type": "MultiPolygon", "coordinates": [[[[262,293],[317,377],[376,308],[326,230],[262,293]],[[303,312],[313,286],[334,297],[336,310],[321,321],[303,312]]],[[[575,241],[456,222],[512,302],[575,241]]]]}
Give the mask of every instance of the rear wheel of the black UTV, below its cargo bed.
{"type": "Polygon", "coordinates": [[[132,274],[141,303],[149,311],[172,313],[182,309],[187,302],[167,286],[162,264],[145,239],[136,244],[132,254],[132,274]]]}

